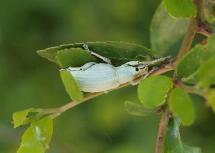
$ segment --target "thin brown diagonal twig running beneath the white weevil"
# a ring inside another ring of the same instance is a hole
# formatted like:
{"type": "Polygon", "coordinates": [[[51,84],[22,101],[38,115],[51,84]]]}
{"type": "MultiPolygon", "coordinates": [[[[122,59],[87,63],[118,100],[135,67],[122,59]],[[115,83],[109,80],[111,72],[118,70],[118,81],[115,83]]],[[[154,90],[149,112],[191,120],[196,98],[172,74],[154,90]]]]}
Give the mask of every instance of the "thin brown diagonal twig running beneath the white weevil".
{"type": "MultiPolygon", "coordinates": [[[[174,69],[174,64],[169,63],[169,64],[166,64],[166,65],[163,65],[160,69],[158,69],[158,70],[154,71],[153,73],[151,73],[150,76],[152,76],[152,75],[160,75],[160,74],[166,73],[168,71],[171,71],[173,69],[174,69]]],[[[142,77],[142,76],[138,76],[136,79],[138,80],[140,77],[142,77]]],[[[129,85],[130,85],[130,82],[122,84],[116,89],[120,89],[122,87],[126,87],[126,86],[129,86],[129,85]]],[[[113,90],[116,90],[116,89],[113,89],[113,90]]],[[[63,112],[65,112],[65,111],[67,111],[67,110],[69,110],[69,109],[71,109],[71,108],[73,108],[73,107],[85,102],[85,101],[88,101],[90,99],[93,99],[95,97],[103,95],[104,93],[105,92],[92,93],[92,94],[89,94],[88,96],[86,96],[81,101],[71,101],[71,102],[69,102],[69,103],[67,103],[67,104],[65,104],[65,105],[63,105],[61,107],[58,107],[58,108],[44,109],[43,110],[43,115],[51,114],[52,118],[56,118],[59,115],[61,115],[63,112]]]]}

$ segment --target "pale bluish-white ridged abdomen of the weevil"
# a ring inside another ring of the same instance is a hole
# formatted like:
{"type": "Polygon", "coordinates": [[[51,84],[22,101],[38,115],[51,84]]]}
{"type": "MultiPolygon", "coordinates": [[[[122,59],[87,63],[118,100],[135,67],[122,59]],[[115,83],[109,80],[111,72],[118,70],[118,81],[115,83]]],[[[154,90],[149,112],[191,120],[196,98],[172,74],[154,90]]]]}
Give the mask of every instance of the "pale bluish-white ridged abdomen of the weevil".
{"type": "MultiPolygon", "coordinates": [[[[83,66],[84,67],[84,66],[83,66]]],[[[105,63],[94,64],[85,70],[70,70],[80,89],[84,92],[101,92],[117,88],[115,67],[105,63]]]]}

